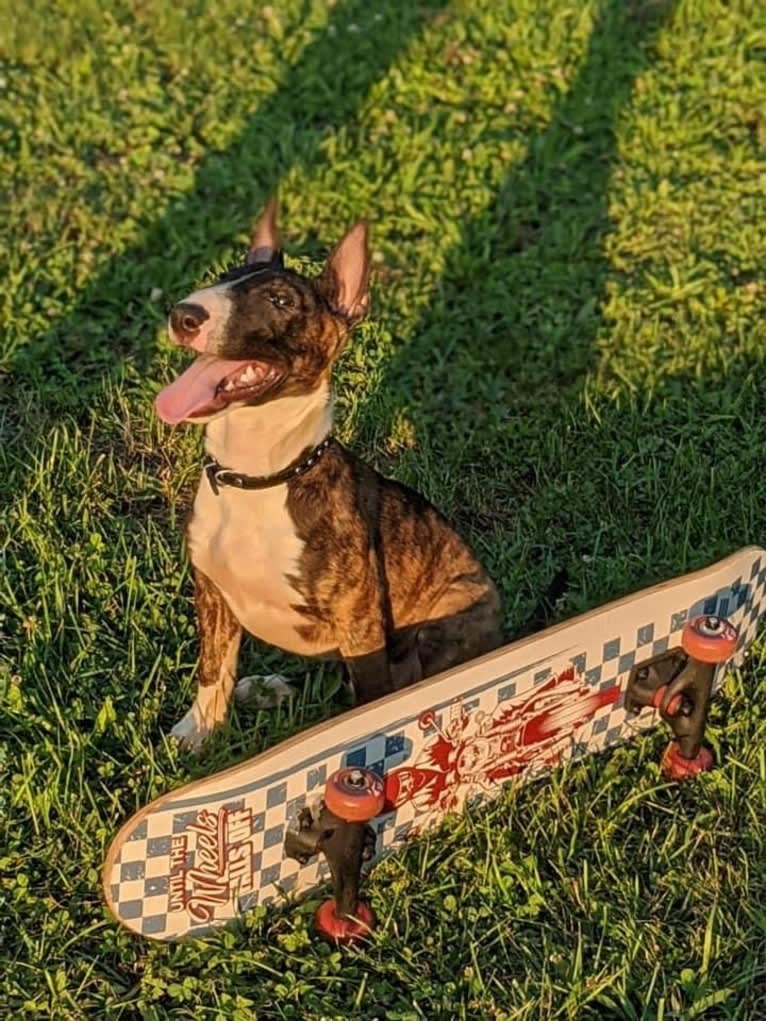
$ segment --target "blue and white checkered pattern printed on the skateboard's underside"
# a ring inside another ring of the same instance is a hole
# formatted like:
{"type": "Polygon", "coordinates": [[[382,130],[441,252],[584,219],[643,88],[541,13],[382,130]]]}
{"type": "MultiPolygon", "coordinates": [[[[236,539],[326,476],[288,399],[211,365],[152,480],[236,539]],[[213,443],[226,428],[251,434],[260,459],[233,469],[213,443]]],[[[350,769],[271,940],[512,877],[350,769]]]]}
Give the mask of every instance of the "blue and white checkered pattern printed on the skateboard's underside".
{"type": "MultiPolygon", "coordinates": [[[[505,710],[516,704],[515,700],[521,703],[535,689],[571,667],[577,678],[591,686],[594,692],[607,692],[615,685],[624,684],[636,662],[677,645],[683,625],[698,614],[727,616],[739,627],[740,639],[734,657],[734,663],[738,664],[766,609],[766,557],[754,555],[746,563],[744,571],[743,562],[737,562],[737,567],[740,570],[714,591],[710,591],[709,586],[705,591],[703,584],[702,592],[689,593],[690,605],[672,604],[674,596],[683,602],[680,586],[678,595],[673,586],[668,597],[663,598],[662,593],[655,595],[643,604],[647,618],[654,615],[654,619],[636,621],[635,615],[623,613],[620,619],[627,623],[612,629],[609,622],[619,615],[608,613],[604,618],[605,629],[597,637],[593,638],[594,629],[590,629],[589,642],[567,646],[556,660],[536,662],[531,667],[491,678],[465,693],[461,711],[468,714],[469,719],[480,722],[497,713],[499,708],[505,710]],[[669,609],[668,603],[671,603],[669,609]]],[[[641,603],[640,594],[631,600],[629,611],[634,609],[633,602],[636,606],[641,603]]],[[[585,631],[586,627],[584,624],[579,630],[585,631]]],[[[577,640],[578,629],[573,629],[572,636],[568,637],[577,640]]],[[[530,654],[536,651],[532,644],[530,654]]],[[[453,689],[451,697],[454,697],[453,689]]],[[[322,882],[328,877],[324,859],[301,867],[284,857],[283,843],[288,826],[295,825],[302,808],[319,806],[327,777],[340,766],[367,767],[383,775],[402,765],[422,764],[424,745],[449,726],[457,712],[453,700],[431,709],[432,723],[417,718],[402,720],[350,747],[339,743],[328,749],[323,740],[322,747],[318,748],[306,735],[304,758],[296,761],[286,775],[248,777],[248,766],[244,764],[236,777],[227,781],[228,789],[205,795],[200,786],[193,796],[185,796],[183,789],[177,791],[140,819],[124,838],[105,875],[110,907],[131,929],[155,938],[173,938],[189,931],[205,931],[256,904],[268,904],[285,892],[298,892],[322,882]],[[224,809],[226,813],[222,814],[224,809]],[[174,883],[178,883],[182,874],[186,880],[206,869],[208,888],[210,882],[214,887],[214,877],[210,880],[209,876],[221,865],[216,858],[213,836],[200,837],[194,829],[200,811],[210,813],[210,819],[224,819],[227,826],[234,827],[227,832],[236,836],[237,881],[228,887],[224,884],[224,892],[216,894],[217,903],[203,905],[201,914],[193,918],[178,897],[174,903],[174,883]]],[[[619,697],[595,711],[574,733],[570,728],[561,749],[561,760],[597,751],[655,725],[657,719],[657,713],[651,709],[628,718],[620,691],[619,697]]],[[[333,738],[340,740],[340,735],[329,732],[328,739],[333,738]]],[[[538,769],[533,764],[525,777],[537,775],[544,768],[538,769]]],[[[212,787],[213,781],[221,785],[218,777],[209,778],[205,784],[212,787]]],[[[476,790],[466,789],[459,794],[459,800],[473,798],[476,793],[476,790]]],[[[482,787],[478,796],[488,797],[491,792],[482,787]]],[[[439,817],[438,812],[424,816],[422,806],[418,806],[415,798],[377,819],[379,854],[385,854],[412,832],[438,822],[439,817]]]]}

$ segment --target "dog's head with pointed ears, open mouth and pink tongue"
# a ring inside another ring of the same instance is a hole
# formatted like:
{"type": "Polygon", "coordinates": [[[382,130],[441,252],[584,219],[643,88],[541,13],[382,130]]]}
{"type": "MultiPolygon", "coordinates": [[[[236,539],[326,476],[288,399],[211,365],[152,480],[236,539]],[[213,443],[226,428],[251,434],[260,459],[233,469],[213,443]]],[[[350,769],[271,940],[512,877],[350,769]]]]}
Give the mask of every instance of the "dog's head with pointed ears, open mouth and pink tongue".
{"type": "Polygon", "coordinates": [[[176,344],[199,356],[162,390],[163,422],[203,423],[234,407],[312,393],[369,308],[368,227],[355,224],[317,278],[285,269],[273,199],[243,265],[171,311],[176,344]]]}

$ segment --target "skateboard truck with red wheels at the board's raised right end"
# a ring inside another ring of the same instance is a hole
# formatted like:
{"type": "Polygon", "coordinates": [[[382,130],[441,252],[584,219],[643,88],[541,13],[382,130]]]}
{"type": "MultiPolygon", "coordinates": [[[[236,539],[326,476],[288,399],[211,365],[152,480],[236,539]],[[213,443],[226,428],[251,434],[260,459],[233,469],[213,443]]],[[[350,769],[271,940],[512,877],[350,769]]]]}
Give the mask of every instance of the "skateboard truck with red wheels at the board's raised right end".
{"type": "Polygon", "coordinates": [[[734,652],[737,629],[722,617],[707,615],[688,621],[681,644],[637,663],[628,678],[625,709],[645,706],[660,711],[675,740],[662,757],[669,780],[684,780],[713,767],[713,755],[703,744],[716,666],[734,652]]]}

